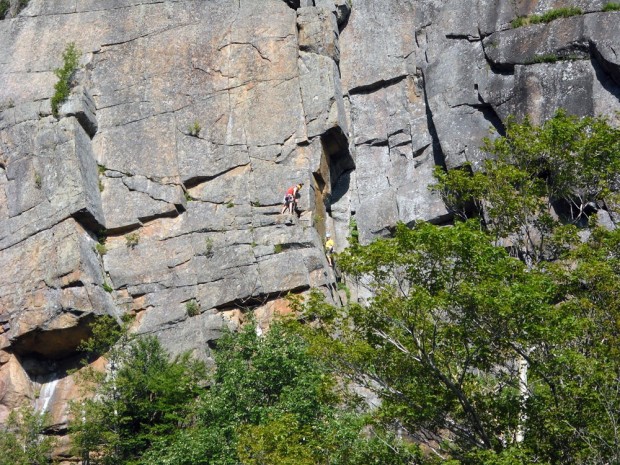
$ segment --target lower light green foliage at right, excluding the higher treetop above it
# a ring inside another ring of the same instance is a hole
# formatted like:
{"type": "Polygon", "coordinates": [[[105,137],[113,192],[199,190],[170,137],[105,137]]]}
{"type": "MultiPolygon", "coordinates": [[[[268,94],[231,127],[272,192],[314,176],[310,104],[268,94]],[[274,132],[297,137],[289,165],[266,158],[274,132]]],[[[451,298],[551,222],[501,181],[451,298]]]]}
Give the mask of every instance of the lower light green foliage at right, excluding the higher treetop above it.
{"type": "Polygon", "coordinates": [[[342,309],[314,294],[313,350],[380,395],[384,421],[445,438],[436,452],[455,463],[617,463],[620,232],[540,266],[492,242],[477,221],[421,223],[343,252],[374,297],[342,309]]]}

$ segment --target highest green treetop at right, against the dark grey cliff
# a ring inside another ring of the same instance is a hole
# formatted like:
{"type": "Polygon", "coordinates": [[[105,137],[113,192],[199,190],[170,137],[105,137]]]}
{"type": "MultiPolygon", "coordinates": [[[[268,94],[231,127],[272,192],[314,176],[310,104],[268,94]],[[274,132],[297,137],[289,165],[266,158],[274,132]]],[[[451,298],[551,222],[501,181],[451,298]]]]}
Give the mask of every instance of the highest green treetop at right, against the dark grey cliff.
{"type": "Polygon", "coordinates": [[[461,218],[484,204],[495,239],[537,262],[561,250],[560,225],[587,225],[588,208],[611,198],[620,181],[620,130],[604,118],[558,112],[540,127],[509,119],[506,136],[486,139],[483,149],[492,157],[482,172],[437,171],[434,188],[461,218]]]}

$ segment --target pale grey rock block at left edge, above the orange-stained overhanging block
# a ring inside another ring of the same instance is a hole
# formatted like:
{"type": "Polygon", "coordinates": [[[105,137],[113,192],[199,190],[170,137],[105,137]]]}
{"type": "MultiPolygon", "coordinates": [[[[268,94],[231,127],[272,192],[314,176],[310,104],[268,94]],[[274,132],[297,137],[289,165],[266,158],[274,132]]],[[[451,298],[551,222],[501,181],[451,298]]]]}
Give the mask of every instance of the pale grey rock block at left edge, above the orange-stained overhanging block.
{"type": "Polygon", "coordinates": [[[103,225],[97,164],[75,118],[23,123],[6,135],[9,217],[0,224],[0,250],[71,215],[103,225]]]}

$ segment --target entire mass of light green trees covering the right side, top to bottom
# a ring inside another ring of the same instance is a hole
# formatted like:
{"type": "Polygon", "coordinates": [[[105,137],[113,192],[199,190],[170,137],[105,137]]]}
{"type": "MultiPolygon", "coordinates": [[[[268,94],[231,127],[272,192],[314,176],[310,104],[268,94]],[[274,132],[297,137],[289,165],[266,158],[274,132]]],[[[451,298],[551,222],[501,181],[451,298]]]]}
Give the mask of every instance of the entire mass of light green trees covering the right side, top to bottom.
{"type": "Polygon", "coordinates": [[[309,299],[316,353],[446,463],[616,463],[620,233],[588,228],[614,203],[619,135],[562,112],[511,120],[482,171],[439,171],[471,219],[340,254],[372,297],[309,299]]]}

